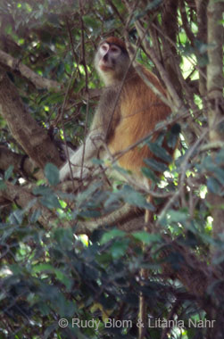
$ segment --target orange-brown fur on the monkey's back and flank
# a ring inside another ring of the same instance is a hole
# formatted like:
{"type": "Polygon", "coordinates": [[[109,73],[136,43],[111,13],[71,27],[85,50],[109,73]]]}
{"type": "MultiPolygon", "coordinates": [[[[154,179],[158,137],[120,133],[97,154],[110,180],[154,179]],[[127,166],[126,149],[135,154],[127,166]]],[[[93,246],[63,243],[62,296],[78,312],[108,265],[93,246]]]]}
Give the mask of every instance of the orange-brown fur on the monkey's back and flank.
{"type": "MultiPolygon", "coordinates": [[[[166,96],[159,79],[149,70],[143,68],[143,71],[153,86],[166,96]]],[[[166,120],[170,115],[170,107],[145,85],[137,72],[126,80],[120,97],[120,122],[109,142],[112,153],[120,153],[137,143],[139,139],[153,131],[156,124],[166,120]]],[[[156,136],[158,132],[153,134],[153,138],[156,136]]],[[[144,159],[153,157],[147,145],[142,147],[138,145],[124,153],[119,159],[119,164],[131,170],[137,177],[142,177],[141,168],[145,166],[144,159]]]]}

